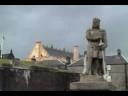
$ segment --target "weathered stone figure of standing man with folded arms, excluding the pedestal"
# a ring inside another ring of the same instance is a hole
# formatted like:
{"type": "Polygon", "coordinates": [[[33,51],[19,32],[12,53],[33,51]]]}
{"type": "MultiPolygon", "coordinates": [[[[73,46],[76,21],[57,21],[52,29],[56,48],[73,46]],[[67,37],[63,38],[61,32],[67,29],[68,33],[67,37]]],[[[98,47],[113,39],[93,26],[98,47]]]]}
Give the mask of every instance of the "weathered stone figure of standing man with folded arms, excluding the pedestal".
{"type": "Polygon", "coordinates": [[[92,28],[86,31],[86,40],[88,41],[86,55],[86,73],[90,75],[104,74],[103,54],[107,47],[106,32],[100,29],[100,19],[93,18],[92,28]]]}

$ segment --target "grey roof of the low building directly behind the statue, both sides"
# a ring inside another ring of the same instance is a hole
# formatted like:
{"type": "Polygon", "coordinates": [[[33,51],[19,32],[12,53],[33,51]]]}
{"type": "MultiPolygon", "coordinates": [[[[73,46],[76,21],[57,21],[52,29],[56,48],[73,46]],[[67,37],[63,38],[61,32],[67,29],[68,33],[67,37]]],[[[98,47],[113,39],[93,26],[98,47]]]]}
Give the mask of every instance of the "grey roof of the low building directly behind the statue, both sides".
{"type": "MultiPolygon", "coordinates": [[[[107,64],[126,64],[126,60],[122,56],[113,55],[113,56],[105,56],[105,61],[107,64]]],[[[80,59],[79,61],[73,63],[73,66],[83,66],[84,58],[80,59]]]]}

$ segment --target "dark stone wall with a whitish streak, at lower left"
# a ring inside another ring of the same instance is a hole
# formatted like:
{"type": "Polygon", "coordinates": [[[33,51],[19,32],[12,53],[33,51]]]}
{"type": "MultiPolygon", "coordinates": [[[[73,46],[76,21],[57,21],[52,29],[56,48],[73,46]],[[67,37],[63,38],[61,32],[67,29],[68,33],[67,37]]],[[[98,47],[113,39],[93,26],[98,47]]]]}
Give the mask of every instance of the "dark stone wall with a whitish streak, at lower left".
{"type": "Polygon", "coordinates": [[[31,67],[0,67],[1,91],[68,91],[70,82],[79,81],[78,73],[31,67]]]}

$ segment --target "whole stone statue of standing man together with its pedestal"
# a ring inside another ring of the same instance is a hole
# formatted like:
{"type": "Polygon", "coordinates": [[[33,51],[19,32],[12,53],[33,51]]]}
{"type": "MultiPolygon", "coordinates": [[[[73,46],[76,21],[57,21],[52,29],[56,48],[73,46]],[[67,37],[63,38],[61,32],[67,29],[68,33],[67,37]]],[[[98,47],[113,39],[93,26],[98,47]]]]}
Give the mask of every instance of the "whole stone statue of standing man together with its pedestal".
{"type": "MultiPolygon", "coordinates": [[[[80,74],[80,81],[70,84],[70,90],[116,90],[106,70],[108,66],[106,67],[104,57],[107,39],[105,30],[100,29],[100,19],[93,19],[92,28],[86,31],[86,40],[88,46],[83,74],[80,74]]],[[[108,69],[111,70],[110,66],[108,69]]]]}

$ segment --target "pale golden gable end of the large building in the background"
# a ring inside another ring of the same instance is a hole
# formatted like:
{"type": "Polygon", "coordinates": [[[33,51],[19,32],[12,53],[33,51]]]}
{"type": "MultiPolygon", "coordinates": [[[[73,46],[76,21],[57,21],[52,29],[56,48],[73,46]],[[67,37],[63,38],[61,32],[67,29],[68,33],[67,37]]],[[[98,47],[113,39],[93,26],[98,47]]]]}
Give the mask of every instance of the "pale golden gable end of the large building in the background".
{"type": "Polygon", "coordinates": [[[32,49],[32,52],[29,54],[27,60],[32,60],[35,58],[36,61],[42,61],[43,59],[48,57],[47,51],[43,48],[41,41],[37,41],[35,46],[32,49]]]}

